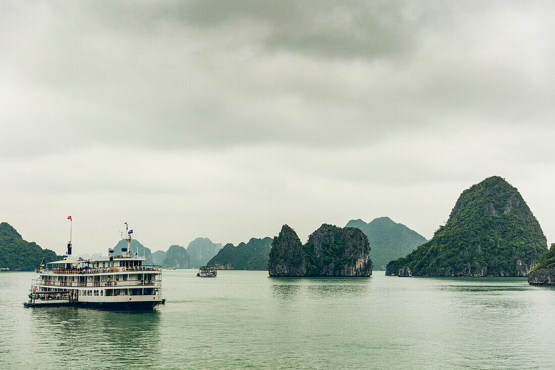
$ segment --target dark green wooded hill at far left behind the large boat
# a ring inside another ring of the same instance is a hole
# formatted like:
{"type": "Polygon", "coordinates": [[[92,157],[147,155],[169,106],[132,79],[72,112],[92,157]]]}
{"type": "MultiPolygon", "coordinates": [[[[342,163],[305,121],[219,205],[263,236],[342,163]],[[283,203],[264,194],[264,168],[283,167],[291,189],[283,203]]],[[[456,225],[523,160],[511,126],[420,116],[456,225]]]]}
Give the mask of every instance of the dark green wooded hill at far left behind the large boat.
{"type": "Polygon", "coordinates": [[[35,242],[24,241],[21,235],[7,222],[0,223],[0,267],[11,271],[33,271],[41,264],[59,261],[50,249],[42,249],[35,242]]]}

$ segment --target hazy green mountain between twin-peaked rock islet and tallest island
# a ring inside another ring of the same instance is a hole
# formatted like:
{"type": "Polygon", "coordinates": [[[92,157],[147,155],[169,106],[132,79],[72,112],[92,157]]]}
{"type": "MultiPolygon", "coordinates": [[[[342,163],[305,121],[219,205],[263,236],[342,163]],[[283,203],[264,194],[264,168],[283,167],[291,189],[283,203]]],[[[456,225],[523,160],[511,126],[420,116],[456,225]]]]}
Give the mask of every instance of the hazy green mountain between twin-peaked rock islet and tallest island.
{"type": "Polygon", "coordinates": [[[345,227],[356,227],[366,234],[375,270],[385,270],[388,262],[405,257],[420,244],[427,242],[416,231],[392,221],[389,217],[375,218],[369,223],[360,218],[352,219],[345,227]]]}

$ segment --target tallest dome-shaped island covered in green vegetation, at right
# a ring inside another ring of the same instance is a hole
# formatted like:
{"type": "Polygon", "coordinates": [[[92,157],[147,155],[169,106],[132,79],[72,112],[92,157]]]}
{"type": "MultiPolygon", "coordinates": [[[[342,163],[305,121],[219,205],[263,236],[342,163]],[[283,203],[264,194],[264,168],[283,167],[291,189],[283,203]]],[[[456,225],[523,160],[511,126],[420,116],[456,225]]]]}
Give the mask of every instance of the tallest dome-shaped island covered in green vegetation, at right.
{"type": "Polygon", "coordinates": [[[547,250],[539,223],[516,188],[498,176],[462,192],[445,224],[386,274],[527,276],[547,250]]]}

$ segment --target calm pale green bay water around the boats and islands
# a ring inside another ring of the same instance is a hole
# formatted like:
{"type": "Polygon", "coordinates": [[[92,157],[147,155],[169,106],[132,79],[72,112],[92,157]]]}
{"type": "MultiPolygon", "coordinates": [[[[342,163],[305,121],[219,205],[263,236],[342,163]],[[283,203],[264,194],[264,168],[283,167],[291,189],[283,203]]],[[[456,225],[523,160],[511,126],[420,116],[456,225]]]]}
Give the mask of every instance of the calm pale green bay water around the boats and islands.
{"type": "Polygon", "coordinates": [[[520,278],[163,272],[153,312],[23,308],[0,273],[1,368],[555,368],[555,289],[520,278]]]}

